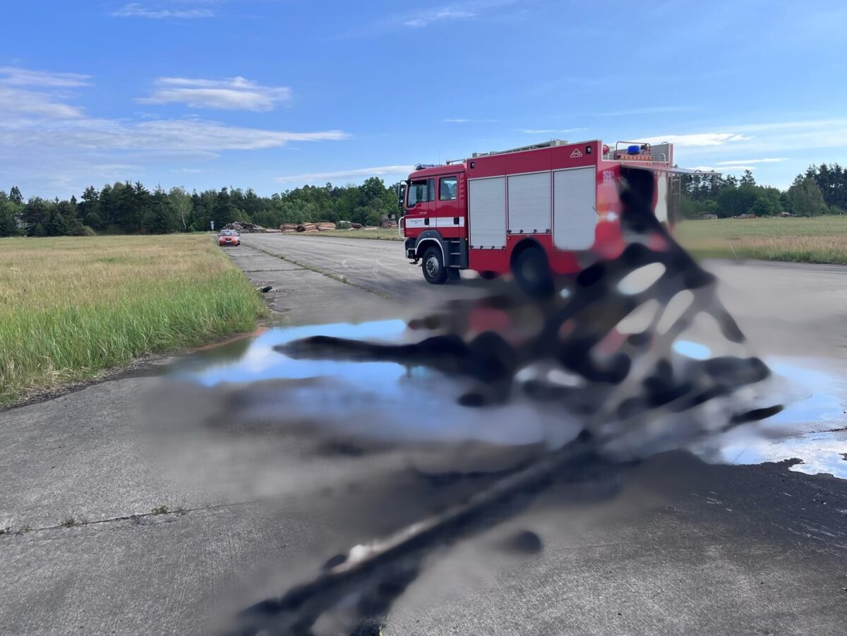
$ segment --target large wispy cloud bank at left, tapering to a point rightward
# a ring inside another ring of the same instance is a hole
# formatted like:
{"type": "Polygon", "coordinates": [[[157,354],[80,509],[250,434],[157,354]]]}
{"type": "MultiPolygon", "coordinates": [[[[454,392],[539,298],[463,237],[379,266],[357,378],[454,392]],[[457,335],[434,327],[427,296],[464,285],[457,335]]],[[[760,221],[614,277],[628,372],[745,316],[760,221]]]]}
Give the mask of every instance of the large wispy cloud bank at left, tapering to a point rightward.
{"type": "MultiPolygon", "coordinates": [[[[30,75],[49,85],[58,74],[30,75]],[[47,79],[45,79],[47,78],[47,79]]],[[[86,75],[73,81],[84,81],[86,75]]],[[[124,119],[92,117],[67,102],[64,87],[32,91],[4,84],[0,74],[0,163],[18,180],[69,193],[95,179],[141,178],[146,166],[211,160],[223,152],[289,147],[309,141],[347,139],[343,130],[268,130],[200,118],[124,119]]],[[[27,80],[33,84],[36,79],[27,80]]],[[[71,81],[69,78],[65,80],[71,81]]],[[[13,82],[16,80],[12,80],[13,82]]],[[[181,164],[181,166],[180,166],[181,164]]]]}

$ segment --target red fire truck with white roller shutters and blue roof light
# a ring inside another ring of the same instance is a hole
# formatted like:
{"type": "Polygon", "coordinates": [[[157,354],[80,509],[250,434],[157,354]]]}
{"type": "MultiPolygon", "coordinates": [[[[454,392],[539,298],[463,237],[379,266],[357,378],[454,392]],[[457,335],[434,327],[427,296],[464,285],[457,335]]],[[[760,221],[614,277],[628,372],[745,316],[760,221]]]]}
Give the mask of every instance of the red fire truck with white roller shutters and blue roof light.
{"type": "Polygon", "coordinates": [[[398,189],[407,257],[434,285],[472,269],[484,278],[512,272],[531,287],[543,273],[578,272],[587,257],[623,249],[617,179],[631,166],[656,177],[656,216],[678,213],[673,146],[551,140],[474,153],[445,165],[418,165],[398,189]]]}

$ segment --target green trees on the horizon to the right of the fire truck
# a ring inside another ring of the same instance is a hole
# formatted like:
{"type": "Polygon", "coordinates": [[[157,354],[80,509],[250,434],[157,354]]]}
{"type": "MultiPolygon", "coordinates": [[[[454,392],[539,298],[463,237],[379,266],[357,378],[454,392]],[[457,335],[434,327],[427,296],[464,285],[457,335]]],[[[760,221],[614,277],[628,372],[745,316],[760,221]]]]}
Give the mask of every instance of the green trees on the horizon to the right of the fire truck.
{"type": "Polygon", "coordinates": [[[788,190],[757,185],[750,170],[738,179],[730,174],[690,175],[682,182],[682,214],[734,217],[739,214],[774,216],[787,212],[800,217],[843,214],[847,210],[847,169],[838,163],[812,165],[798,174],[788,190]]]}

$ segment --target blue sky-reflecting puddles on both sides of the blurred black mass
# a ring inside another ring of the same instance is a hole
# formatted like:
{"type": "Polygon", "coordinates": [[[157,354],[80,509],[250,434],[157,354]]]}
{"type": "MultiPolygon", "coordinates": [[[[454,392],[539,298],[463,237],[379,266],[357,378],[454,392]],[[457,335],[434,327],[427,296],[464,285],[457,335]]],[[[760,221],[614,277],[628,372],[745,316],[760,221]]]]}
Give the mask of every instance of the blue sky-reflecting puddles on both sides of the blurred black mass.
{"type": "MultiPolygon", "coordinates": [[[[249,385],[268,380],[328,379],[270,395],[263,390],[266,408],[285,408],[301,418],[349,415],[360,418],[368,434],[385,440],[451,442],[481,440],[491,444],[527,445],[546,442],[558,445],[579,432],[573,421],[562,423],[549,409],[517,402],[501,409],[507,417],[490,418],[484,409],[456,404],[462,386],[440,373],[396,362],[296,360],[274,346],[312,335],[398,342],[408,335],[401,320],[363,324],[324,324],[270,329],[255,338],[237,340],[180,362],[171,373],[206,387],[249,385]],[[437,395],[439,399],[433,399],[437,395]],[[268,402],[268,399],[270,400],[268,402]],[[374,406],[379,402],[381,408],[374,406]],[[398,418],[402,419],[398,425],[398,418]],[[516,426],[515,423],[520,423],[516,426]],[[551,431],[560,428],[555,436],[551,431]]],[[[678,353],[702,359],[710,351],[701,345],[678,341],[678,353]]],[[[780,462],[799,458],[791,467],[803,473],[830,473],[847,478],[847,432],[844,428],[844,380],[834,373],[811,368],[811,361],[769,358],[778,376],[775,390],[788,405],[755,429],[738,429],[720,440],[717,456],[710,459],[739,464],[780,462]]],[[[261,395],[257,390],[257,395],[261,395]]]]}

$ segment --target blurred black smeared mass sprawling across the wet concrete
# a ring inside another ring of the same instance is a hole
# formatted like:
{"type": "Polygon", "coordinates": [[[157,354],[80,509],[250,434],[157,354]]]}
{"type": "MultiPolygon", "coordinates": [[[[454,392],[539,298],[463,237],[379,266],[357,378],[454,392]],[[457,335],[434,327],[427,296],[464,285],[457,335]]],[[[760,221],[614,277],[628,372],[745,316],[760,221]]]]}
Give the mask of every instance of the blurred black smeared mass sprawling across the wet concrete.
{"type": "MultiPolygon", "coordinates": [[[[412,321],[412,329],[435,331],[413,344],[318,336],[277,347],[290,357],[429,368],[469,380],[459,404],[490,409],[491,418],[512,401],[529,400],[562,420],[579,419],[584,434],[553,445],[446,512],[354,547],[311,581],[243,612],[233,633],[308,634],[340,605],[355,607],[358,628],[379,624],[417,578],[425,557],[520,512],[554,481],[602,462],[684,447],[778,411],[739,395],[770,371],[746,350],[745,336],[717,299],[715,277],[653,214],[653,175],[622,169],[622,177],[621,226],[628,246],[575,278],[551,275],[549,288],[533,294],[513,283],[501,285],[491,296],[454,303],[412,321]],[[645,317],[634,321],[641,313],[645,317]],[[676,350],[700,314],[716,324],[725,355],[676,350]],[[625,328],[627,321],[635,326],[625,328]]],[[[521,543],[540,549],[540,539],[530,534],[521,543]]]]}

